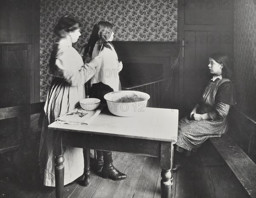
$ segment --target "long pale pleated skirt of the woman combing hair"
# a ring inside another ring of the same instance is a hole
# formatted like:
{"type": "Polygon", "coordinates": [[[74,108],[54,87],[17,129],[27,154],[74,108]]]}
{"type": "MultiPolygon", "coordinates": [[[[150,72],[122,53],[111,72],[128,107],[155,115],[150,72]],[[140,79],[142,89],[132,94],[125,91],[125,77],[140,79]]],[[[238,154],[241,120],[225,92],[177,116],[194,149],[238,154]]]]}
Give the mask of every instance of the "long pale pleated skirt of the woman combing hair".
{"type": "MultiPolygon", "coordinates": [[[[52,81],[44,106],[44,121],[41,131],[39,163],[44,173],[44,185],[55,187],[55,155],[52,130],[48,125],[56,118],[79,106],[85,98],[84,86],[73,87],[58,78],[52,81]]],[[[83,149],[66,147],[64,153],[64,185],[69,184],[84,173],[83,149]]]]}

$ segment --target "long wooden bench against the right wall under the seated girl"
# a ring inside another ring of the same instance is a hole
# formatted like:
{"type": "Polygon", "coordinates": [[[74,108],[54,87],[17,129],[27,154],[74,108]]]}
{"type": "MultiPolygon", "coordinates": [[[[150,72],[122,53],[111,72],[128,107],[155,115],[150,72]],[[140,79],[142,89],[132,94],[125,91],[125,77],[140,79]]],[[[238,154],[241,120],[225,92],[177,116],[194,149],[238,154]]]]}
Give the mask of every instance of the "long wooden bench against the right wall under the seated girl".
{"type": "MultiPolygon", "coordinates": [[[[239,112],[238,110],[233,109],[229,114],[229,119],[236,119],[234,122],[239,123],[239,120],[247,119],[247,122],[253,124],[253,129],[255,129],[256,122],[239,112]],[[231,114],[231,115],[230,115],[231,114]],[[233,115],[233,116],[232,116],[233,115]],[[241,118],[243,116],[243,118],[241,118]],[[239,119],[241,118],[241,119],[239,119]]],[[[230,127],[232,128],[232,127],[230,127]]],[[[232,131],[229,128],[229,134],[232,131]]],[[[238,127],[237,127],[238,128],[238,127]]],[[[236,129],[233,129],[236,130],[236,129]]],[[[241,133],[246,133],[247,131],[241,131],[241,133]]],[[[256,197],[256,164],[250,157],[236,144],[236,142],[230,137],[228,133],[223,134],[221,137],[211,138],[210,141],[224,161],[227,163],[228,167],[233,171],[236,178],[240,181],[244,190],[248,193],[248,196],[251,198],[256,197]]],[[[251,133],[254,133],[255,130],[252,130],[251,133]]],[[[249,137],[252,137],[251,135],[249,137]]],[[[249,142],[250,144],[252,139],[249,142]]],[[[255,157],[255,156],[254,156],[255,157]]]]}

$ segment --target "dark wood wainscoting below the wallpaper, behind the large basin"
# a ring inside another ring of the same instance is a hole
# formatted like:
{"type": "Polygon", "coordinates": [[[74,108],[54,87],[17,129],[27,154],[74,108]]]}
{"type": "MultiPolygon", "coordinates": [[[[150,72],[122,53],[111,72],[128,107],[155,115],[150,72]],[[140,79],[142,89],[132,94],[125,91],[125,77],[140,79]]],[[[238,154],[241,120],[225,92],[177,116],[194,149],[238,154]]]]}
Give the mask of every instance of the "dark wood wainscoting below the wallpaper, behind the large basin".
{"type": "Polygon", "coordinates": [[[151,107],[176,107],[179,99],[178,70],[180,44],[177,42],[112,42],[123,63],[120,81],[123,90],[151,95],[151,107]],[[159,81],[163,83],[159,83],[159,81]],[[152,100],[155,101],[152,101],[152,100]],[[154,104],[154,105],[152,105],[154,104]]]}

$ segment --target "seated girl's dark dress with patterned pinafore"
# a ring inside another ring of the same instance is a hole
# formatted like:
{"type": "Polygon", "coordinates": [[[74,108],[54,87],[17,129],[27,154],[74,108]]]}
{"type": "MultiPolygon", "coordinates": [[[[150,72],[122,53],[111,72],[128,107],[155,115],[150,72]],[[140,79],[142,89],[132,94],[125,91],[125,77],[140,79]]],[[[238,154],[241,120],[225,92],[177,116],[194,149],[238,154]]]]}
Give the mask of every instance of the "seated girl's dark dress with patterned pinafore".
{"type": "Polygon", "coordinates": [[[208,113],[210,119],[195,121],[189,115],[178,125],[176,150],[190,155],[211,137],[219,137],[228,130],[227,114],[231,105],[236,104],[236,92],[230,79],[211,80],[206,86],[196,110],[199,114],[208,113]]]}

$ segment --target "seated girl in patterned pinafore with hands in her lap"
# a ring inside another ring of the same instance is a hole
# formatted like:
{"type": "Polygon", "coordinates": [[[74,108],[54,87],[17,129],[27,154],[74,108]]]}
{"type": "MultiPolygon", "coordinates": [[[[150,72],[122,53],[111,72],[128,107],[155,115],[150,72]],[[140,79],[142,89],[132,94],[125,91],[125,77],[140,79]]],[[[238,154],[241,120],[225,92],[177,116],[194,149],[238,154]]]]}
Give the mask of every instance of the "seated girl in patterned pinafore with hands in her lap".
{"type": "Polygon", "coordinates": [[[189,156],[191,150],[196,151],[208,138],[220,137],[228,130],[227,114],[231,105],[236,104],[229,58],[222,53],[212,54],[208,68],[213,76],[204,90],[201,102],[178,124],[174,171],[186,164],[180,161],[184,159],[181,153],[189,156]]]}

